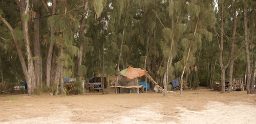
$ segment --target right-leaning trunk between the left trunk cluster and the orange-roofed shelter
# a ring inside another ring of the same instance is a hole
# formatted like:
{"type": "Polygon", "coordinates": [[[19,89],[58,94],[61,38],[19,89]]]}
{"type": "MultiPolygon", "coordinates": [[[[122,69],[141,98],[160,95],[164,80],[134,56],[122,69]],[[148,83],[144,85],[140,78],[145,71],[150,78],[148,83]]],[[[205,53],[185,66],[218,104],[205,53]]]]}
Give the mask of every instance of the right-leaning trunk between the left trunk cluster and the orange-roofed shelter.
{"type": "MultiPolygon", "coordinates": [[[[84,13],[82,14],[81,17],[81,22],[80,22],[80,30],[79,30],[79,38],[82,39],[84,38],[83,34],[84,34],[84,30],[86,29],[86,14],[87,14],[87,10],[88,10],[88,2],[89,0],[84,0],[83,1],[83,11],[84,13]]],[[[77,64],[76,64],[76,75],[78,74],[78,68],[80,65],[82,65],[82,53],[83,53],[83,41],[80,41],[79,44],[79,52],[78,52],[78,56],[77,56],[77,64]]],[[[78,75],[77,75],[78,76],[78,75]]]]}

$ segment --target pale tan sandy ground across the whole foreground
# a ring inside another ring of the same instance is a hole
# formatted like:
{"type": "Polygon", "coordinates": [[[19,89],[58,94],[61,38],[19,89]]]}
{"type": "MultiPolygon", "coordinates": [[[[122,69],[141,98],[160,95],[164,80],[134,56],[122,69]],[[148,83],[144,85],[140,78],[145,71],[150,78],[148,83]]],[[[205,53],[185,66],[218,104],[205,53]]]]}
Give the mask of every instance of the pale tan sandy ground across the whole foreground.
{"type": "Polygon", "coordinates": [[[0,95],[0,112],[0,123],[256,123],[256,94],[0,95]]]}

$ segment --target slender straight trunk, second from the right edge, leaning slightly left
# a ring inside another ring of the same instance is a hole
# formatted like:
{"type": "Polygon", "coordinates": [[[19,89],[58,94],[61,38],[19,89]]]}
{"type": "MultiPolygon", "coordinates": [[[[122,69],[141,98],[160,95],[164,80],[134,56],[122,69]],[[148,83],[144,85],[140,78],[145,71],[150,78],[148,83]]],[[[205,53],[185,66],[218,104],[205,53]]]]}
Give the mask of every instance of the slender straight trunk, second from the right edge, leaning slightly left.
{"type": "Polygon", "coordinates": [[[244,5],[244,40],[245,40],[245,53],[246,53],[246,78],[247,78],[247,85],[246,91],[247,94],[251,93],[251,67],[250,67],[250,55],[249,55],[249,47],[248,47],[248,40],[247,40],[247,17],[246,17],[246,7],[244,5]]]}

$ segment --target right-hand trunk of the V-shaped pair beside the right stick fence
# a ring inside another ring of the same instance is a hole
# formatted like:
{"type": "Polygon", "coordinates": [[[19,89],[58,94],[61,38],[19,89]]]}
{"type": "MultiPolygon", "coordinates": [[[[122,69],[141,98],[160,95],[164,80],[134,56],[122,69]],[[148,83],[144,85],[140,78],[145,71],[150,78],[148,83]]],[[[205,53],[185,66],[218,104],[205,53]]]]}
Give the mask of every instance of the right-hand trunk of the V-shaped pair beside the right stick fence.
{"type": "MultiPolygon", "coordinates": [[[[237,12],[237,11],[235,11],[237,12]]],[[[232,91],[232,84],[233,84],[233,66],[234,66],[234,40],[236,39],[236,32],[237,32],[237,23],[238,17],[236,13],[233,13],[233,30],[232,30],[232,41],[231,41],[231,48],[230,48],[230,66],[229,66],[229,82],[228,82],[228,92],[232,91]]]]}

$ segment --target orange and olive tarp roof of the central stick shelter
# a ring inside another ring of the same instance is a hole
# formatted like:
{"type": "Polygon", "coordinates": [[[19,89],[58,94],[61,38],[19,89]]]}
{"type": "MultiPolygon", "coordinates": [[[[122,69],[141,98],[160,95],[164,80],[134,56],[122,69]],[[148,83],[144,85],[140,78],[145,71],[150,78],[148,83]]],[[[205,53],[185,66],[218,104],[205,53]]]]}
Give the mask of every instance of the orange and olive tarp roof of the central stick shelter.
{"type": "Polygon", "coordinates": [[[146,75],[146,71],[140,68],[128,67],[120,71],[120,75],[128,79],[135,79],[146,75]]]}

